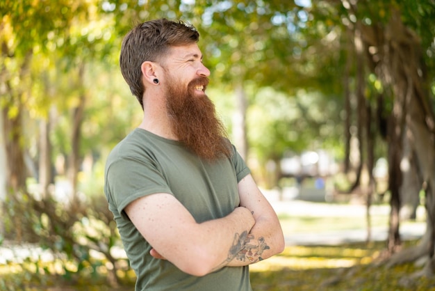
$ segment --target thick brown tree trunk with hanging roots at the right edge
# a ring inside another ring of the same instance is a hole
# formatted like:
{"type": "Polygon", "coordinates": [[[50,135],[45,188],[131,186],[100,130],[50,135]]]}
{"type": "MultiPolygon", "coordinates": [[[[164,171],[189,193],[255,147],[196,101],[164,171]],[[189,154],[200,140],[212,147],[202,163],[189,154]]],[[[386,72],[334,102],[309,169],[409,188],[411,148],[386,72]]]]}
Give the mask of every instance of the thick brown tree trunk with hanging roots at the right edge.
{"type": "MultiPolygon", "coordinates": [[[[336,1],[331,1],[337,3],[336,1]]],[[[399,210],[400,191],[405,169],[402,167],[404,148],[409,147],[422,181],[420,189],[426,194],[427,233],[420,244],[409,251],[397,253],[391,263],[416,260],[427,255],[429,260],[422,274],[433,275],[434,266],[434,214],[435,214],[435,145],[434,105],[430,97],[433,70],[433,37],[435,26],[429,20],[435,15],[432,1],[341,1],[343,24],[354,36],[353,42],[365,54],[365,67],[375,78],[375,95],[381,118],[388,123],[389,190],[391,191],[391,219],[388,250],[394,253],[400,245],[399,210]],[[404,145],[407,146],[404,146],[404,145]],[[412,253],[412,255],[410,255],[412,253]]],[[[361,66],[356,67],[361,72],[361,66]],[[359,69],[358,69],[359,68],[359,69]]],[[[366,74],[367,75],[367,74],[366,74]]],[[[433,84],[432,84],[433,86],[433,84]]],[[[368,96],[366,96],[367,98],[368,96]]],[[[359,110],[358,114],[366,111],[359,110]]],[[[360,123],[361,126],[361,123],[360,123]]],[[[381,128],[379,128],[381,129],[381,128]]],[[[381,130],[379,130],[381,132],[381,130]]],[[[361,142],[361,137],[360,137],[361,142]]],[[[369,168],[371,171],[372,169],[369,168]]],[[[418,195],[413,193],[413,195],[418,195]]]]}

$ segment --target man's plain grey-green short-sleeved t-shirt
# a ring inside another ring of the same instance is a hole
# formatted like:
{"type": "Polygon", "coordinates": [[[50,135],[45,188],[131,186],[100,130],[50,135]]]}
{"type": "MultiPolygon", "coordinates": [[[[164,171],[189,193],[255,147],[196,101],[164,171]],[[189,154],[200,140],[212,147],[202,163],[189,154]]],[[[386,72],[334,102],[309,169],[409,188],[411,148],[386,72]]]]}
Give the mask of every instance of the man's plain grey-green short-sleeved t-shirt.
{"type": "Polygon", "coordinates": [[[137,198],[168,193],[198,223],[225,217],[239,205],[237,184],[249,173],[234,147],[230,158],[207,162],[178,141],[144,129],[133,130],[110,152],[104,191],[136,272],[136,290],[252,290],[247,266],[223,267],[197,277],[182,272],[167,260],[153,258],[149,255],[151,246],[124,212],[126,205],[137,198]]]}

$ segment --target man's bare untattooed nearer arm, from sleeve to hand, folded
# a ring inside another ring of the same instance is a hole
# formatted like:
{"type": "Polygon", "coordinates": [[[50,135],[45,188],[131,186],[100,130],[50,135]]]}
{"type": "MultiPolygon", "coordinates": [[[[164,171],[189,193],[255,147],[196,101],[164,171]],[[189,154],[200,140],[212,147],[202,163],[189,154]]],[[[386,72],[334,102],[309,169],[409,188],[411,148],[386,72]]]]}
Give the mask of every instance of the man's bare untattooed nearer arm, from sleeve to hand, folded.
{"type": "Polygon", "coordinates": [[[240,237],[246,237],[255,223],[245,207],[236,207],[226,217],[197,223],[170,194],[134,200],[127,205],[126,214],[154,248],[151,255],[165,258],[194,276],[204,276],[222,267],[229,260],[229,253],[242,249],[240,237]],[[154,221],[156,217],[161,218],[158,223],[154,221]]]}

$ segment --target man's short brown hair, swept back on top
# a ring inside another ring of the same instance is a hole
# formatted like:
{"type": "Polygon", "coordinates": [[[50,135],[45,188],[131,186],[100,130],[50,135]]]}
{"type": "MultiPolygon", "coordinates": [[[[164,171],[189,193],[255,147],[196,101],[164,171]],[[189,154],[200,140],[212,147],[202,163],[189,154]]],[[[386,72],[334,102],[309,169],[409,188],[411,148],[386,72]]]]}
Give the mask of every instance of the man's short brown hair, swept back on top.
{"type": "Polygon", "coordinates": [[[170,47],[190,45],[198,42],[199,33],[191,24],[178,20],[156,19],[138,24],[122,40],[120,68],[122,76],[130,86],[143,109],[140,66],[145,61],[161,61],[170,47]]]}

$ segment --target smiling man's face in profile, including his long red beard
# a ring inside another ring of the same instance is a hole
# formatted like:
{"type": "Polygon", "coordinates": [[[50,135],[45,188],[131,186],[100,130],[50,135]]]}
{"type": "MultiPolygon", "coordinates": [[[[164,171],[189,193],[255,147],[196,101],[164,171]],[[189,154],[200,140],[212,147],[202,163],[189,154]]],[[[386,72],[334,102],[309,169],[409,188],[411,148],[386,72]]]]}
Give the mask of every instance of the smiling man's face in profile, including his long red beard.
{"type": "Polygon", "coordinates": [[[224,126],[205,93],[210,71],[197,45],[175,47],[165,63],[166,109],[174,134],[200,157],[228,157],[224,126]]]}

